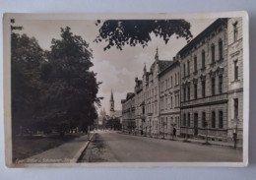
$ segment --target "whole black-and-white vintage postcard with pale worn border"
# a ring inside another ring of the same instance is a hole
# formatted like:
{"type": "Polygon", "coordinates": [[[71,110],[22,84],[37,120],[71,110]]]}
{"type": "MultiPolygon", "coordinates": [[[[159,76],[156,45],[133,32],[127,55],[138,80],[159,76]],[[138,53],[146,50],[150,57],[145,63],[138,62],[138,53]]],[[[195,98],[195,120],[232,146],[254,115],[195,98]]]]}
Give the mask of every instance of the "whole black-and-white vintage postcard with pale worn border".
{"type": "Polygon", "coordinates": [[[8,167],[246,166],[246,12],[5,14],[8,167]]]}

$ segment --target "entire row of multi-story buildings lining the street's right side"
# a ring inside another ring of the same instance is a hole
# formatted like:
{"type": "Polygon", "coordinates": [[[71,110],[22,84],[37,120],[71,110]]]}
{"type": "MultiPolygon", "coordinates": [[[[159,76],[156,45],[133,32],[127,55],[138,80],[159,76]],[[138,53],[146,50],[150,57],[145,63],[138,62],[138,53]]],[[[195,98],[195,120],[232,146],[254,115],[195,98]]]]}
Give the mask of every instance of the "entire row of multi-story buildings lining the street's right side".
{"type": "Polygon", "coordinates": [[[122,103],[123,131],[242,143],[242,19],[218,19],[172,60],[159,52],[122,103]]]}

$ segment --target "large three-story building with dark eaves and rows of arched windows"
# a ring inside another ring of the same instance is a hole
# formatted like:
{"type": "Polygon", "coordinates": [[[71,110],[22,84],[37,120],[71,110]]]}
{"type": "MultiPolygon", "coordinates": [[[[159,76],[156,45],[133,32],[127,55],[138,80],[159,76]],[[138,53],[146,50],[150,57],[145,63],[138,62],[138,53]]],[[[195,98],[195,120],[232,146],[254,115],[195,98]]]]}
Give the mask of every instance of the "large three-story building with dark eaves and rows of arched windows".
{"type": "Polygon", "coordinates": [[[226,141],[227,19],[218,19],[179,52],[181,135],[226,141]]]}

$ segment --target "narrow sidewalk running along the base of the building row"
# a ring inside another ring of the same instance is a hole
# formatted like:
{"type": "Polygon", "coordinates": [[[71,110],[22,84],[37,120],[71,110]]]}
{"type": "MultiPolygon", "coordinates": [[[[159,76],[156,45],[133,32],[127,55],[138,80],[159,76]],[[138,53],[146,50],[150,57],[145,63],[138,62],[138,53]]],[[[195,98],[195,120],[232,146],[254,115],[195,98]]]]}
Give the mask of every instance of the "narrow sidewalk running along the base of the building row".
{"type": "MultiPolygon", "coordinates": [[[[163,136],[159,136],[159,137],[156,137],[156,136],[153,136],[153,137],[150,137],[150,136],[141,136],[141,135],[135,135],[135,134],[129,134],[129,133],[123,133],[123,132],[118,132],[118,133],[121,133],[121,134],[126,134],[126,135],[132,135],[132,136],[138,136],[138,137],[145,137],[145,138],[154,138],[154,139],[161,139],[161,140],[167,140],[167,141],[171,141],[172,140],[172,136],[165,136],[164,139],[163,136]]],[[[174,141],[178,141],[178,142],[182,142],[185,140],[185,138],[178,138],[178,137],[175,137],[174,138],[174,141]]],[[[205,140],[200,140],[200,139],[188,139],[188,143],[192,143],[192,144],[200,144],[203,146],[203,144],[205,143],[206,141],[205,140]]],[[[219,142],[219,141],[208,141],[210,143],[210,146],[221,146],[221,147],[229,147],[229,148],[233,148],[233,142],[219,142]]],[[[236,145],[236,148],[237,149],[242,149],[242,146],[241,145],[236,145]]]]}

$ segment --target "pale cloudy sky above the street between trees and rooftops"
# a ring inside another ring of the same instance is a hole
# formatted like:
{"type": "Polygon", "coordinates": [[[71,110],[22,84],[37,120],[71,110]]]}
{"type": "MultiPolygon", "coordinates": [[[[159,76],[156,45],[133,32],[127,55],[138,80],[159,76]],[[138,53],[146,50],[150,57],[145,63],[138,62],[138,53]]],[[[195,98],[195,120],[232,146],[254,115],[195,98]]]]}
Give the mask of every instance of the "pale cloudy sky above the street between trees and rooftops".
{"type": "MultiPolygon", "coordinates": [[[[191,24],[193,37],[205,30],[216,19],[191,19],[186,20],[191,24]]],[[[70,27],[76,35],[81,35],[93,49],[91,68],[96,75],[99,86],[97,96],[104,97],[101,108],[108,113],[110,105],[110,92],[113,90],[115,110],[121,110],[121,99],[126,97],[127,92],[134,91],[135,78],[142,79],[143,68],[146,64],[147,70],[155,60],[157,47],[159,48],[160,60],[171,60],[173,56],[184,47],[187,42],[184,38],[176,39],[172,36],[167,44],[162,39],[152,34],[152,41],[143,48],[140,45],[130,47],[126,45],[123,50],[112,47],[103,50],[105,42],[96,43],[94,39],[98,35],[96,21],[92,20],[17,20],[17,26],[23,26],[20,33],[27,33],[38,40],[42,49],[50,49],[51,39],[60,38],[60,28],[70,27]]],[[[98,108],[99,110],[99,108],[98,108]]]]}

